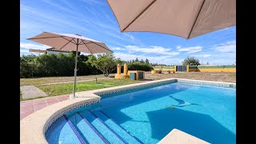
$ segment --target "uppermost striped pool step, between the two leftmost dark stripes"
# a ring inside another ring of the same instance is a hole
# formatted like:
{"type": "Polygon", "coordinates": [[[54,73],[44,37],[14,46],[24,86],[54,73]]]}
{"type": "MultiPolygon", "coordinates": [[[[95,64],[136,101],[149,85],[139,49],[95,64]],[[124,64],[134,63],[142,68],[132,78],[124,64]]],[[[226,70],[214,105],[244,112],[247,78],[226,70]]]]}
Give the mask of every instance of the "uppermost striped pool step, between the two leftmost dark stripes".
{"type": "Polygon", "coordinates": [[[102,134],[98,132],[98,130],[95,130],[94,126],[92,126],[90,122],[88,122],[85,118],[82,118],[80,114],[72,114],[68,118],[86,143],[110,143],[102,136],[102,134]]]}

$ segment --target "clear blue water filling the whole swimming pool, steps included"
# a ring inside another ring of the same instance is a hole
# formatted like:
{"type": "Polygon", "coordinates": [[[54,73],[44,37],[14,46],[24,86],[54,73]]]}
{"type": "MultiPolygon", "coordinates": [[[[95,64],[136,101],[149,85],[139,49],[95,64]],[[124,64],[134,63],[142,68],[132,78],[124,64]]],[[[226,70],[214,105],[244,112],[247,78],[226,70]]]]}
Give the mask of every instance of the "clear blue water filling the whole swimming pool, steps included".
{"type": "Polygon", "coordinates": [[[65,118],[59,118],[46,131],[46,139],[50,143],[70,143],[71,138],[72,143],[82,143],[79,138],[86,143],[157,143],[175,128],[206,142],[232,144],[235,92],[175,82],[103,97],[100,107],[67,116],[78,134],[65,118]]]}

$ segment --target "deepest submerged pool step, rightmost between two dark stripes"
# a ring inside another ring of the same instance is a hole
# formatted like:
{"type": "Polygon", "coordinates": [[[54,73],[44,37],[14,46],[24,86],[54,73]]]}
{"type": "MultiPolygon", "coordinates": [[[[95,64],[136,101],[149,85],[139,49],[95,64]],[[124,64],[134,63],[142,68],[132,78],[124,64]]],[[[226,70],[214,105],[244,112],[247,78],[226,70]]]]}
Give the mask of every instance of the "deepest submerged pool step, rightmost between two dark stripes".
{"type": "Polygon", "coordinates": [[[133,144],[143,143],[133,134],[130,134],[129,131],[124,129],[122,126],[118,125],[117,122],[114,122],[114,120],[110,118],[108,115],[106,115],[102,110],[94,111],[92,113],[96,115],[98,118],[100,118],[103,122],[105,122],[107,126],[114,130],[115,133],[121,136],[126,142],[133,144]]]}

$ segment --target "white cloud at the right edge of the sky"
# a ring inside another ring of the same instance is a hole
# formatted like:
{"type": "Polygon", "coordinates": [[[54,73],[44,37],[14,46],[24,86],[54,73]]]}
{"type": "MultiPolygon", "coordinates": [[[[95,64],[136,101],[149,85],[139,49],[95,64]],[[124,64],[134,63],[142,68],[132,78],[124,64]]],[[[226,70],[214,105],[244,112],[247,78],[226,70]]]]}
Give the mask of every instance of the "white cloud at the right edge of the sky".
{"type": "Polygon", "coordinates": [[[231,41],[231,42],[222,43],[220,45],[213,46],[213,48],[214,50],[220,51],[223,53],[236,52],[236,42],[231,41]]]}

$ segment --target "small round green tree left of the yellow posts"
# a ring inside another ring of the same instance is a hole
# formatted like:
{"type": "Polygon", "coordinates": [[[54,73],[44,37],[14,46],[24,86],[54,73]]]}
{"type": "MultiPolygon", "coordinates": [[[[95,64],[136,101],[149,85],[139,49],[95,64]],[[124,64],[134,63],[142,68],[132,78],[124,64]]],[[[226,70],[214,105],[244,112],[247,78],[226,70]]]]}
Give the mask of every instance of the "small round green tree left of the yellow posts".
{"type": "Polygon", "coordinates": [[[98,58],[91,54],[88,61],[91,63],[91,66],[101,70],[105,77],[109,76],[117,65],[113,54],[98,54],[98,58]]]}

